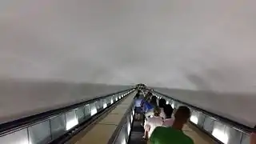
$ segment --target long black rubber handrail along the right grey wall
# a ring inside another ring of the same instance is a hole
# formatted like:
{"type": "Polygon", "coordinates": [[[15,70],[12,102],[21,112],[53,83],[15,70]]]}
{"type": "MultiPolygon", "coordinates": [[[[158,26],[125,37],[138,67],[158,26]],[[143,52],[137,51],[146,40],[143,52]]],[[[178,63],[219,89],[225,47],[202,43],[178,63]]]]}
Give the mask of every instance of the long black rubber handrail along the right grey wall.
{"type": "Polygon", "coordinates": [[[173,99],[176,102],[182,103],[183,105],[186,105],[186,106],[189,106],[189,107],[193,108],[194,110],[198,110],[198,111],[200,111],[200,112],[202,112],[202,113],[204,113],[204,114],[206,114],[206,115],[208,115],[208,116],[210,116],[212,118],[215,118],[219,122],[225,122],[226,124],[228,124],[230,126],[233,126],[234,129],[241,130],[244,133],[250,134],[254,130],[253,128],[251,128],[249,126],[243,125],[243,124],[241,124],[239,122],[235,122],[233,120],[230,120],[229,118],[224,118],[221,115],[214,114],[214,113],[212,113],[210,111],[203,110],[203,109],[199,108],[198,106],[192,106],[189,103],[182,102],[182,101],[180,101],[180,100],[178,100],[176,98],[170,97],[169,95],[162,94],[162,93],[160,93],[158,91],[155,91],[155,90],[153,92],[156,93],[156,94],[163,95],[163,96],[165,96],[167,98],[171,98],[171,99],[173,99]]]}

